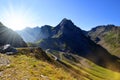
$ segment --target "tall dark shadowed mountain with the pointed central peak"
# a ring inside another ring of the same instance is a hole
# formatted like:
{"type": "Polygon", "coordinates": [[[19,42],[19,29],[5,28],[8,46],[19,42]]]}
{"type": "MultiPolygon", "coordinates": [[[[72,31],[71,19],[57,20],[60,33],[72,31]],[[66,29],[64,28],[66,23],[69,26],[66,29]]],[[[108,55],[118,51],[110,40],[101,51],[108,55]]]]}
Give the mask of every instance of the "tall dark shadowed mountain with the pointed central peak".
{"type": "MultiPolygon", "coordinates": [[[[86,37],[83,31],[74,25],[71,20],[64,18],[56,27],[43,26],[42,29],[39,29],[40,33],[42,32],[47,36],[41,37],[39,35],[35,39],[38,41],[35,41],[34,44],[42,49],[69,52],[87,58],[102,67],[120,71],[119,59],[86,37]]],[[[26,38],[27,36],[23,37],[24,40],[26,38]]]]}

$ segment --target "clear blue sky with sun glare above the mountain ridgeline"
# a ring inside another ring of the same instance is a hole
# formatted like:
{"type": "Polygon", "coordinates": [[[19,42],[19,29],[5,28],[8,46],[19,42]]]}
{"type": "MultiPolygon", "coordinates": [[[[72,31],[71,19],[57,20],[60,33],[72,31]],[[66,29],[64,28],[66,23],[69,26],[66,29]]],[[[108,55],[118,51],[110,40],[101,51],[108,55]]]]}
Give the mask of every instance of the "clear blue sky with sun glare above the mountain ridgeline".
{"type": "Polygon", "coordinates": [[[0,0],[0,21],[13,30],[71,19],[83,30],[120,25],[120,0],[0,0]]]}

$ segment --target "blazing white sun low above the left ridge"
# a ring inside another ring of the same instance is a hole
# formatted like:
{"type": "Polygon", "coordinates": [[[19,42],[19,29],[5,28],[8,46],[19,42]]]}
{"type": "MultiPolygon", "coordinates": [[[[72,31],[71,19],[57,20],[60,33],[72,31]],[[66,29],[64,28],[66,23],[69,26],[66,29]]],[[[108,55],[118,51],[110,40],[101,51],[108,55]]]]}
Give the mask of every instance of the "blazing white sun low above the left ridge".
{"type": "Polygon", "coordinates": [[[13,30],[21,30],[27,26],[27,18],[22,14],[9,14],[4,24],[13,30]]]}

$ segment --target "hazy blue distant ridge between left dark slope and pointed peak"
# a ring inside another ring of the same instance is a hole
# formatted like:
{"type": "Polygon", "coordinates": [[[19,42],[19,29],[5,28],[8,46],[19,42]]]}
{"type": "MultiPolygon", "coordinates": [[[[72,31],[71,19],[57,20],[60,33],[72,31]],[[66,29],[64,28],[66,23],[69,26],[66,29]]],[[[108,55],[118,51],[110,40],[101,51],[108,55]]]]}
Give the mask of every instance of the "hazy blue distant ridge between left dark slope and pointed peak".
{"type": "Polygon", "coordinates": [[[22,31],[16,31],[26,42],[36,42],[40,39],[48,38],[51,34],[52,26],[44,25],[41,28],[25,28],[22,31]],[[27,37],[26,37],[27,36],[27,37]]]}

